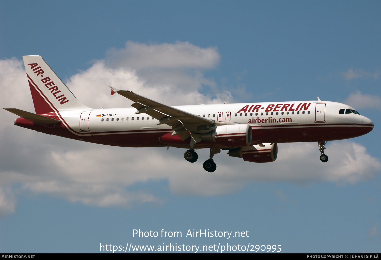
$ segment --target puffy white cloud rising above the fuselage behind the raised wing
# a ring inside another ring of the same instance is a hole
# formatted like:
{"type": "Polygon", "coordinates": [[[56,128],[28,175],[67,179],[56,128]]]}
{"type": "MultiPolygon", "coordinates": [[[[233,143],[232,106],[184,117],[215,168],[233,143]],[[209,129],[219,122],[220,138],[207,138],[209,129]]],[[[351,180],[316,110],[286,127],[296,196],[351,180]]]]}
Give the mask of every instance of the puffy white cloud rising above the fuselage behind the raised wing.
{"type": "Polygon", "coordinates": [[[219,62],[216,48],[200,48],[187,42],[151,44],[127,42],[120,50],[108,51],[86,71],[70,77],[67,86],[86,106],[126,107],[122,96],[110,96],[107,85],[131,90],[169,105],[232,103],[229,90],[220,91],[203,70],[219,62]],[[210,91],[201,94],[207,86],[210,91]]]}

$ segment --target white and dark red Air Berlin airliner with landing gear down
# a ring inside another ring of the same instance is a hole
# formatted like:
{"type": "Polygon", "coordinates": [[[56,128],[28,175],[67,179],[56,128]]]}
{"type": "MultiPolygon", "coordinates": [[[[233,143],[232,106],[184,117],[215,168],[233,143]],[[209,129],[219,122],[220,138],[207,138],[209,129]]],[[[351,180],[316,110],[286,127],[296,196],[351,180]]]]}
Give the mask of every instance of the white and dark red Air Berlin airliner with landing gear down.
{"type": "Polygon", "coordinates": [[[328,141],[369,133],[373,122],[346,104],[321,101],[168,106],[133,91],[115,93],[132,108],[92,109],[78,101],[41,56],[22,56],[35,113],[6,108],[18,116],[14,125],[79,141],[123,147],[167,146],[210,149],[203,168],[214,172],[213,156],[226,150],[248,162],[274,162],[277,143],[318,142],[320,160],[328,141]]]}

